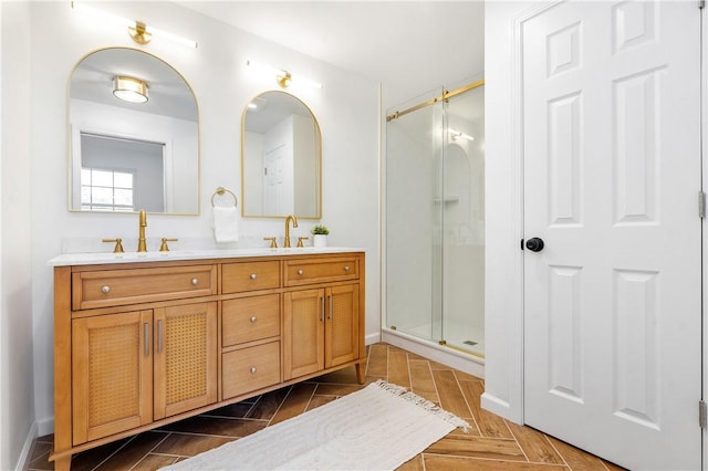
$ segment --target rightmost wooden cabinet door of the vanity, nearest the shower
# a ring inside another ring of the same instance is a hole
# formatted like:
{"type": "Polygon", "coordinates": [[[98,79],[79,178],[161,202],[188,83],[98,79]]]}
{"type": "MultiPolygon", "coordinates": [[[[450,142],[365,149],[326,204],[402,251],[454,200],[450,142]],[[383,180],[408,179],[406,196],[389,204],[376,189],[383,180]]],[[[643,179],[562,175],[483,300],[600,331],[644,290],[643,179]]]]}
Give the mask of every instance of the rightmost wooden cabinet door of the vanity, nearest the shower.
{"type": "Polygon", "coordinates": [[[325,367],[358,358],[358,285],[326,289],[325,367]]]}

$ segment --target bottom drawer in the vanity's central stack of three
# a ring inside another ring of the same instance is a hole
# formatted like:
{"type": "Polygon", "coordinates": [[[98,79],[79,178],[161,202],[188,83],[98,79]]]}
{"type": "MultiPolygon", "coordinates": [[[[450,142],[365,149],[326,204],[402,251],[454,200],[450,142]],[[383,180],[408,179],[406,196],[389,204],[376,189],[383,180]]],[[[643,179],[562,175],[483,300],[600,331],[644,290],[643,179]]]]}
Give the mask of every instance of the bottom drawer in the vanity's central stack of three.
{"type": "Polygon", "coordinates": [[[221,356],[223,399],[275,385],[280,379],[280,342],[241,348],[221,356]]]}

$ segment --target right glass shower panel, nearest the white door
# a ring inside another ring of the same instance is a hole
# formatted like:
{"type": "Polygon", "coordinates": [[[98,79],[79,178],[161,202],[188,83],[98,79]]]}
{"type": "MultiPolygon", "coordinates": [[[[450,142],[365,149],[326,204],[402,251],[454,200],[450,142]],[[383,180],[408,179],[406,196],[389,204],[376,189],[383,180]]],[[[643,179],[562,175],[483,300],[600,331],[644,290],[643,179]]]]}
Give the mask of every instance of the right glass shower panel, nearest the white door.
{"type": "Polygon", "coordinates": [[[446,345],[485,352],[483,86],[445,105],[442,171],[442,336],[446,345]]]}

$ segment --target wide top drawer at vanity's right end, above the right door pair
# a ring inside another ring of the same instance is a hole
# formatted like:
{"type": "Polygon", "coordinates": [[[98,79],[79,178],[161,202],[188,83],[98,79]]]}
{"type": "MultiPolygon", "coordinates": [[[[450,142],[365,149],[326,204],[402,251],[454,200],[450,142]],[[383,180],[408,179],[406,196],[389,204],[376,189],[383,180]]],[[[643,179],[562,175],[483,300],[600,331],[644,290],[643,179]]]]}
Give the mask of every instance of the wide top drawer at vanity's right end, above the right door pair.
{"type": "Polygon", "coordinates": [[[358,259],[290,260],[285,262],[285,286],[358,279],[358,259]]]}

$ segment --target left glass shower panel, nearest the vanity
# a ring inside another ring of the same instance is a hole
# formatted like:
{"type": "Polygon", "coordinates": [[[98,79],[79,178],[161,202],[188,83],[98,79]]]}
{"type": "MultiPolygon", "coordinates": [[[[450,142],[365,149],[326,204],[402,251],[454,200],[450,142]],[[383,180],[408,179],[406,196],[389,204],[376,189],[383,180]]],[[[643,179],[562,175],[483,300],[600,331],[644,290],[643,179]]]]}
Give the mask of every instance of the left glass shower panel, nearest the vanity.
{"type": "MultiPolygon", "coordinates": [[[[440,96],[412,100],[388,116],[440,96]]],[[[386,125],[386,323],[431,341],[442,338],[442,102],[386,125]]]]}

